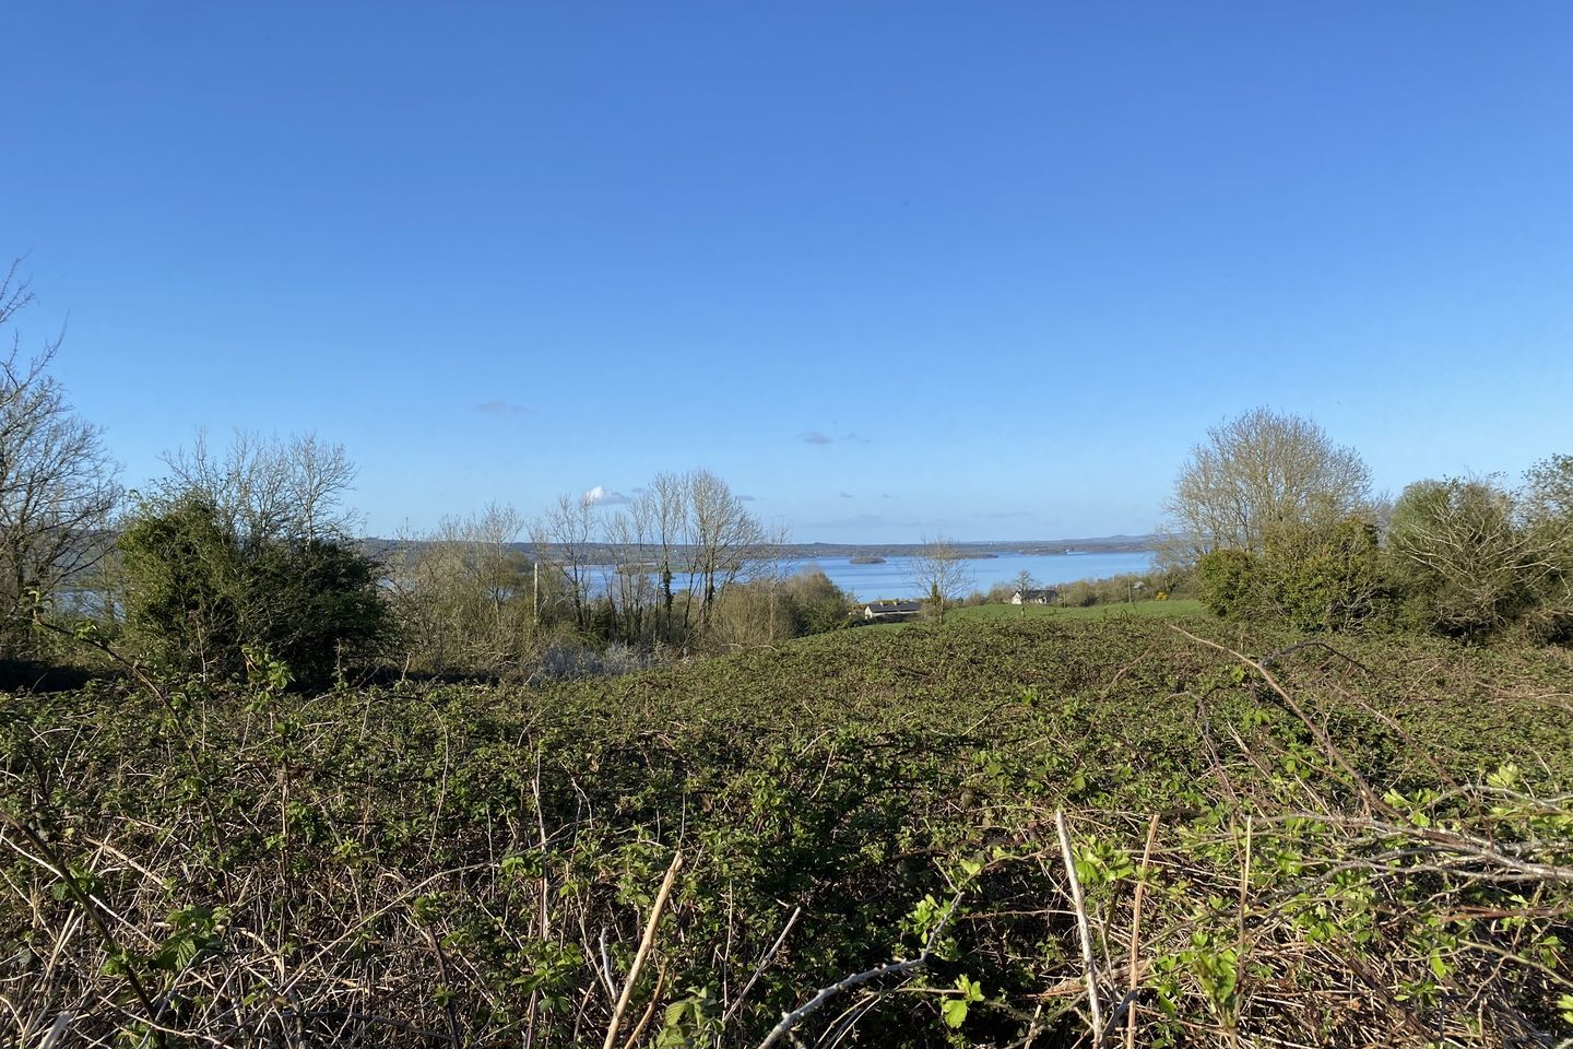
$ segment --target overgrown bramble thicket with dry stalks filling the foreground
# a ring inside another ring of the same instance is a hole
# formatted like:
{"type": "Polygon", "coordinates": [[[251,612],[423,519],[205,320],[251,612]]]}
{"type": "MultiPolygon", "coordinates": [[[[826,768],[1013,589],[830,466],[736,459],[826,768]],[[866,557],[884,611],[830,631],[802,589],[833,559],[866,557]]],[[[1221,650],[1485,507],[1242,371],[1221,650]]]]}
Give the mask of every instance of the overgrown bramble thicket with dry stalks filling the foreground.
{"type": "Polygon", "coordinates": [[[6,698],[0,1030],[1573,1035],[1567,653],[1186,629],[856,631],[546,690],[307,697],[258,661],[244,687],[6,698]],[[898,958],[925,964],[799,1016],[898,958]]]}

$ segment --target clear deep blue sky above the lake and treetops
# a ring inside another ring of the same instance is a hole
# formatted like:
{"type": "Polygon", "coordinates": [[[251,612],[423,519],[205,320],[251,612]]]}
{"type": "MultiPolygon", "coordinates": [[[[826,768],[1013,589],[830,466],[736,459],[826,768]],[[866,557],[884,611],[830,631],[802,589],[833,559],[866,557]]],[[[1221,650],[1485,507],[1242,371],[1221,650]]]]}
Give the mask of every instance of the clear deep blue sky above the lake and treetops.
{"type": "Polygon", "coordinates": [[[1573,451],[1573,5],[30,3],[24,346],[126,480],[315,429],[368,530],[703,466],[798,541],[1153,528],[1269,404],[1573,451]]]}

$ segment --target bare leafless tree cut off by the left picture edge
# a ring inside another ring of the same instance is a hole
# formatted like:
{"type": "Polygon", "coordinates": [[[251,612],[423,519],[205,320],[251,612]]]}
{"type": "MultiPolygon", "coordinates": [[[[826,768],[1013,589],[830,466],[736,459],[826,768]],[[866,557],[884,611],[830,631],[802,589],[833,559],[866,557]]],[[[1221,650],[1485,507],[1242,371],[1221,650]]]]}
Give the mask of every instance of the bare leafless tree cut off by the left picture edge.
{"type": "MultiPolygon", "coordinates": [[[[0,280],[0,326],[33,302],[13,263],[0,280]]],[[[60,594],[109,549],[118,467],[98,426],[47,373],[60,338],[31,359],[20,335],[0,359],[0,654],[30,648],[31,609],[60,594]]]]}

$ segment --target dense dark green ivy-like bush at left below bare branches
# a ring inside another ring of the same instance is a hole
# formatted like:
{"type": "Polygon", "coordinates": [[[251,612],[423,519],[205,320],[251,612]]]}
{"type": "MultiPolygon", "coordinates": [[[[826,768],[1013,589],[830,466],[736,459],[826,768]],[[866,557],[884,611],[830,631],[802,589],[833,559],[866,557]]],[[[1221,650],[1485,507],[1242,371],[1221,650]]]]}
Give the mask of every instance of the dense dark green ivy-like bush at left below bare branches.
{"type": "Polygon", "coordinates": [[[145,503],[120,550],[127,639],[175,670],[223,678],[256,648],[321,686],[389,637],[378,566],[346,543],[242,538],[187,495],[145,503]]]}

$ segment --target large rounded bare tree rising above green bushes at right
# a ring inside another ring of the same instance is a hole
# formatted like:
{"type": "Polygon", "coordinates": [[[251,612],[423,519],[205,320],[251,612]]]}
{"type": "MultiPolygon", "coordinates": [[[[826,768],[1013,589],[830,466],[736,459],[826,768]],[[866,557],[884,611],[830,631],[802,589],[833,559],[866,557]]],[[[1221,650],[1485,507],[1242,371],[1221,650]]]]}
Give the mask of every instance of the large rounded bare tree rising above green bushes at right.
{"type": "Polygon", "coordinates": [[[1218,549],[1260,552],[1268,528],[1365,510],[1370,470],[1309,418],[1257,407],[1206,431],[1166,503],[1166,560],[1218,549]]]}

